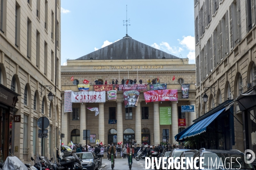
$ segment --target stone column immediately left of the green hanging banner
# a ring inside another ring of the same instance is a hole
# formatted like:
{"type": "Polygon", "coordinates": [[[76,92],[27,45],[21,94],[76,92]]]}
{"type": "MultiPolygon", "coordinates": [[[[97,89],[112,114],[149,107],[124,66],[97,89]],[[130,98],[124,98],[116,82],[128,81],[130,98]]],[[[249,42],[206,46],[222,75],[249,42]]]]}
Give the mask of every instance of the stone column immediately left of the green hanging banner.
{"type": "Polygon", "coordinates": [[[160,144],[159,102],[154,102],[154,144],[160,144]]]}

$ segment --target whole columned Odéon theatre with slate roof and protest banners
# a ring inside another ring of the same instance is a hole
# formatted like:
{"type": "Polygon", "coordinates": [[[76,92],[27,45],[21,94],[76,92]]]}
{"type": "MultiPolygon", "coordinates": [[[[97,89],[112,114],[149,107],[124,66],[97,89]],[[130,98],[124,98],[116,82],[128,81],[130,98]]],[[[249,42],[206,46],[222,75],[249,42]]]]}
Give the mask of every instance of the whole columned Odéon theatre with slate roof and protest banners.
{"type": "Polygon", "coordinates": [[[181,112],[182,105],[196,105],[195,64],[126,35],[83,57],[67,60],[67,65],[61,66],[61,94],[65,145],[70,141],[85,144],[86,129],[90,130],[90,144],[96,140],[124,144],[132,139],[139,144],[160,144],[165,141],[162,129],[169,129],[169,143],[177,143],[175,135],[196,118],[196,110],[181,112]],[[186,85],[186,97],[182,85],[186,85]],[[180,126],[178,119],[183,122],[180,126]]]}

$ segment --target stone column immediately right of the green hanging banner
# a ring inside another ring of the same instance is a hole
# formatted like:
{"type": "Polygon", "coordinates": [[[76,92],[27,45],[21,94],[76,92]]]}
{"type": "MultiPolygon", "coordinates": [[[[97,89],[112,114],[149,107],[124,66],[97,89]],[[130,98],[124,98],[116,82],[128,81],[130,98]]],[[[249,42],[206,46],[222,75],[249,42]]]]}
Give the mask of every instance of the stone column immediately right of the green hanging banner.
{"type": "Polygon", "coordinates": [[[177,144],[175,136],[178,134],[178,111],[177,102],[172,101],[172,143],[177,144]]]}

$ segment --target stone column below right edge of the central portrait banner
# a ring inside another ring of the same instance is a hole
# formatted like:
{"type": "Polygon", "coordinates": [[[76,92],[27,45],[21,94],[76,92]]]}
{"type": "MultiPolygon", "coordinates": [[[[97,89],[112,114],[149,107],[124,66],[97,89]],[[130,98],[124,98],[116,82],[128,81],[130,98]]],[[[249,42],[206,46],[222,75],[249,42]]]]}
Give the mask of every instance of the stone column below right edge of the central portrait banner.
{"type": "Polygon", "coordinates": [[[141,144],[141,112],[140,112],[140,101],[138,102],[135,115],[135,140],[137,144],[141,144]]]}

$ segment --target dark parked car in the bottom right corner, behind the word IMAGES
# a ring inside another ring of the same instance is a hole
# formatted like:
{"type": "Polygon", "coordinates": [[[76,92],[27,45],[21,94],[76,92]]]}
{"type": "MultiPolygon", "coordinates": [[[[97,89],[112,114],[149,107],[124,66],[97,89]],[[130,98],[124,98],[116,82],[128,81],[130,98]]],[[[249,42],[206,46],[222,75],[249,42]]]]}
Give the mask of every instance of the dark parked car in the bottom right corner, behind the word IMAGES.
{"type": "MultiPolygon", "coordinates": [[[[240,170],[255,170],[255,165],[247,164],[244,161],[244,153],[239,150],[210,150],[210,149],[200,149],[193,156],[193,160],[195,157],[204,157],[202,161],[204,164],[202,167],[203,170],[216,170],[218,169],[219,162],[222,160],[222,164],[224,167],[219,166],[219,169],[240,169],[240,170]],[[232,157],[232,158],[231,158],[232,157]],[[208,159],[209,158],[209,159],[208,159]],[[211,163],[212,160],[217,160],[217,164],[213,165],[211,163]],[[209,160],[209,161],[208,161],[209,160]],[[232,163],[231,163],[232,162],[232,163]],[[212,167],[211,167],[212,164],[212,167]],[[232,167],[230,167],[232,164],[232,167]]],[[[199,167],[200,159],[197,161],[196,165],[199,167]]],[[[194,165],[193,165],[194,166],[194,165]]],[[[193,167],[195,170],[195,167],[193,167]]]]}

